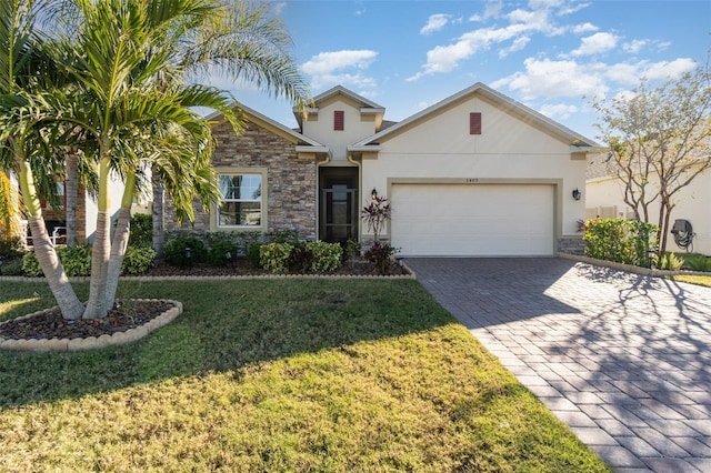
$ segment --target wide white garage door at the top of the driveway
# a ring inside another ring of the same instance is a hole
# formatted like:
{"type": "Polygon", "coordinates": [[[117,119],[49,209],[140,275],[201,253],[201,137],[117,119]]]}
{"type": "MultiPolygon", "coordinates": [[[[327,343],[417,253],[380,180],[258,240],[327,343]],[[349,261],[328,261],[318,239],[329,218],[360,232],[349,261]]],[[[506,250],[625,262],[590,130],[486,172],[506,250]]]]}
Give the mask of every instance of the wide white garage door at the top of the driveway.
{"type": "Polygon", "coordinates": [[[399,255],[553,254],[553,185],[393,184],[390,201],[399,255]]]}

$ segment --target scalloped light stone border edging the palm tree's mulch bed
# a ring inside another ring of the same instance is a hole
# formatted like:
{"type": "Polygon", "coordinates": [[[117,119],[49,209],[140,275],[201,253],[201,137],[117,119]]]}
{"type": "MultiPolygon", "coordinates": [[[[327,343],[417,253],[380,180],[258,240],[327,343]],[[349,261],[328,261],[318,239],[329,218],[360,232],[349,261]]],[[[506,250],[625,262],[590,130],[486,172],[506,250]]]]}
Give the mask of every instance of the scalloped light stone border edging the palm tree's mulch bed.
{"type": "MultiPolygon", "coordinates": [[[[150,301],[150,299],[136,299],[134,301],[150,301]]],[[[163,312],[162,314],[151,319],[150,322],[144,323],[141,326],[129,329],[126,332],[117,332],[111,335],[104,334],[99,338],[88,336],[86,339],[3,339],[0,336],[1,350],[13,351],[42,351],[42,352],[73,352],[79,350],[93,350],[103,349],[112,345],[122,345],[124,343],[131,343],[137,340],[146,338],[149,333],[160,329],[163,325],[169,324],[182,313],[182,303],[169,299],[161,300],[173,304],[172,308],[163,312]]],[[[56,309],[56,308],[54,308],[56,309]]],[[[46,309],[43,311],[34,312],[28,315],[22,315],[13,320],[29,319],[31,316],[52,311],[53,309],[46,309]]],[[[4,322],[3,322],[4,323],[4,322]]],[[[0,324],[1,325],[1,324],[0,324]]]]}

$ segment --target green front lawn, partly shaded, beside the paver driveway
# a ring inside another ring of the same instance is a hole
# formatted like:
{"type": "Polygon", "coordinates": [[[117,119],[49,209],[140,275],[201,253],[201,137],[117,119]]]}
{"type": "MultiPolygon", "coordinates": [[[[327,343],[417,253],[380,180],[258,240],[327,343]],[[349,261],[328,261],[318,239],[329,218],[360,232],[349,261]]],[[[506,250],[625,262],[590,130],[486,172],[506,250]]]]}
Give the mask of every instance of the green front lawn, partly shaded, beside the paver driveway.
{"type": "MultiPolygon", "coordinates": [[[[119,291],[184,312],[124,346],[0,352],[0,471],[609,471],[415,281],[119,291]]],[[[0,320],[53,304],[0,294],[0,320]]]]}

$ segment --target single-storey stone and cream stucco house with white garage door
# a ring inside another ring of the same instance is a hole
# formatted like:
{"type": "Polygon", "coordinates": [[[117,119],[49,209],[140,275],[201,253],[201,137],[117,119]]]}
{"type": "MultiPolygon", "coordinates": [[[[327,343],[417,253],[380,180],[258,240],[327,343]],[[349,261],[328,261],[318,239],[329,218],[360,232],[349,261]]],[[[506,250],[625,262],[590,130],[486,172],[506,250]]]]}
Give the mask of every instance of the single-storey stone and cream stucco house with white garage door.
{"type": "MultiPolygon", "coordinates": [[[[342,87],[314,98],[293,131],[247,108],[236,135],[219,115],[213,163],[223,201],[198,231],[297,230],[368,242],[373,193],[382,238],[405,256],[553,255],[581,248],[587,155],[599,145],[477,83],[399,122],[342,87]],[[572,243],[572,246],[571,246],[572,243]]],[[[166,212],[167,230],[176,229],[166,212]]]]}

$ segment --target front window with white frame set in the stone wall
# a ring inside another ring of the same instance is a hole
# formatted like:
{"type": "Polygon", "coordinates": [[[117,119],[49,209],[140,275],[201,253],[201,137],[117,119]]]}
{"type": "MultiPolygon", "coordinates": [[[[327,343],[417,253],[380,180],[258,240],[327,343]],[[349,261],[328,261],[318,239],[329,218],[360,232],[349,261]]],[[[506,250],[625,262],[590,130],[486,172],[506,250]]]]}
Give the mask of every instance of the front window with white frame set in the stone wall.
{"type": "Polygon", "coordinates": [[[262,224],[261,174],[220,174],[220,193],[218,227],[262,224]]]}

